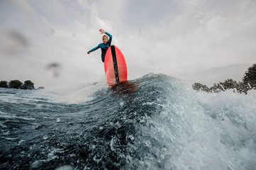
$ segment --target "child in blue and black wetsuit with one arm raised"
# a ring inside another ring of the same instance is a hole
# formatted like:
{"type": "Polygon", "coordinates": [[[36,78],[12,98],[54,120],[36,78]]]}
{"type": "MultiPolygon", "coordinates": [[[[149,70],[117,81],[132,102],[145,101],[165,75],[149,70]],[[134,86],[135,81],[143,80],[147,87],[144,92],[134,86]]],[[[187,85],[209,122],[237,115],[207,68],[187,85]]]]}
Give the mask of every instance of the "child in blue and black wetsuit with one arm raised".
{"type": "Polygon", "coordinates": [[[102,60],[102,62],[104,62],[105,55],[106,55],[106,50],[108,50],[108,47],[111,46],[112,35],[110,33],[107,33],[105,30],[102,30],[102,29],[100,29],[99,31],[101,32],[101,34],[103,34],[103,33],[106,34],[106,35],[103,35],[103,37],[102,37],[103,43],[100,43],[97,47],[94,47],[93,49],[89,50],[89,52],[87,52],[87,54],[90,54],[90,52],[93,52],[93,51],[101,48],[101,60],[102,60]],[[109,37],[109,40],[108,40],[108,37],[109,37]]]}

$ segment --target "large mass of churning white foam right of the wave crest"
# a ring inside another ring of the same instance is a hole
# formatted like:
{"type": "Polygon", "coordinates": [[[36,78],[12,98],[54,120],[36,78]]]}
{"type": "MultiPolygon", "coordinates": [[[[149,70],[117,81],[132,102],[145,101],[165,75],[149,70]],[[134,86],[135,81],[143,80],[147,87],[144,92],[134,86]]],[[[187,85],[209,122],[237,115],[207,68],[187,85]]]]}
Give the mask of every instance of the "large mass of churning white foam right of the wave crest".
{"type": "MultiPolygon", "coordinates": [[[[150,135],[164,146],[154,146],[151,140],[157,160],[165,166],[162,169],[255,167],[255,91],[245,95],[233,91],[207,94],[179,90],[179,94],[170,94],[165,111],[150,121],[154,128],[141,127],[145,136],[150,135]]],[[[157,169],[155,158],[150,154],[148,157],[143,164],[157,169]]]]}

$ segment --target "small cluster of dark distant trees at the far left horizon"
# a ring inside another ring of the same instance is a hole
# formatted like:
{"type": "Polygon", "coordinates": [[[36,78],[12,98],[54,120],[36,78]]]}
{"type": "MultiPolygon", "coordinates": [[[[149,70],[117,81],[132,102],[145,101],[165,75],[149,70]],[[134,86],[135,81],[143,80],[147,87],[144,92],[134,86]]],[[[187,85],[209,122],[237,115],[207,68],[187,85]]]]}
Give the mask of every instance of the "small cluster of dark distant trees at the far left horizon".
{"type": "Polygon", "coordinates": [[[19,80],[11,80],[9,81],[9,83],[7,81],[0,81],[0,87],[12,88],[12,89],[35,90],[34,83],[30,80],[24,81],[24,83],[22,83],[19,80]]]}

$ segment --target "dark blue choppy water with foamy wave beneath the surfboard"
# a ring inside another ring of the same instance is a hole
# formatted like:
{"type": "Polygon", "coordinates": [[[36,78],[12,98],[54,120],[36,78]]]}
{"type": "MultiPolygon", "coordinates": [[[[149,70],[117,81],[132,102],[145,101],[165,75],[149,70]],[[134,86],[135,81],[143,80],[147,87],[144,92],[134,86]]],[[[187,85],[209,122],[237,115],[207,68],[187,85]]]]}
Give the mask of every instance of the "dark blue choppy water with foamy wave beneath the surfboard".
{"type": "Polygon", "coordinates": [[[256,97],[165,74],[0,89],[0,169],[256,169],[256,97]]]}

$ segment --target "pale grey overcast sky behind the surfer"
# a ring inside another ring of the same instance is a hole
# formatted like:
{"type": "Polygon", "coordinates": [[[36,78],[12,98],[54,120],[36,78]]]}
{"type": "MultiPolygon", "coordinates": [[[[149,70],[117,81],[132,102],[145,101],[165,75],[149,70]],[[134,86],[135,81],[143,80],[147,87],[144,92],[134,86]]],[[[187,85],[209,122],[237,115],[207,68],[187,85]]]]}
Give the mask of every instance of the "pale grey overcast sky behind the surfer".
{"type": "Polygon", "coordinates": [[[1,0],[0,81],[101,81],[101,50],[87,54],[100,28],[123,52],[128,80],[242,81],[256,63],[255,16],[255,0],[1,0]]]}

